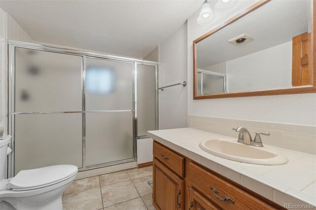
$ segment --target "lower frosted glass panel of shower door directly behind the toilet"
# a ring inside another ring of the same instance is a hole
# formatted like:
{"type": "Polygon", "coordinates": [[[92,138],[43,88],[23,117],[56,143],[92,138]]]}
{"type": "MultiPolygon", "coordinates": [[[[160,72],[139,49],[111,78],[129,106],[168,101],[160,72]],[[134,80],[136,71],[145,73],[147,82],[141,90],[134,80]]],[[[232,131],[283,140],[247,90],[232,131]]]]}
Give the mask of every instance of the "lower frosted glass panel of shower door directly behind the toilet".
{"type": "Polygon", "coordinates": [[[15,174],[58,164],[82,167],[82,114],[16,114],[15,174]]]}

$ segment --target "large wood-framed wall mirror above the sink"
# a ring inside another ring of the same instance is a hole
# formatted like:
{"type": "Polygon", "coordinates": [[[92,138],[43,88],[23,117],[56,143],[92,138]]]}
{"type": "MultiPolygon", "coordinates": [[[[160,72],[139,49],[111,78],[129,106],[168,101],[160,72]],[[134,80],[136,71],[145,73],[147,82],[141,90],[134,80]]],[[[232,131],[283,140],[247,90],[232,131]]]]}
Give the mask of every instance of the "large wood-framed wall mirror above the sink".
{"type": "Polygon", "coordinates": [[[265,0],[193,42],[194,99],[316,92],[315,0],[265,0]]]}

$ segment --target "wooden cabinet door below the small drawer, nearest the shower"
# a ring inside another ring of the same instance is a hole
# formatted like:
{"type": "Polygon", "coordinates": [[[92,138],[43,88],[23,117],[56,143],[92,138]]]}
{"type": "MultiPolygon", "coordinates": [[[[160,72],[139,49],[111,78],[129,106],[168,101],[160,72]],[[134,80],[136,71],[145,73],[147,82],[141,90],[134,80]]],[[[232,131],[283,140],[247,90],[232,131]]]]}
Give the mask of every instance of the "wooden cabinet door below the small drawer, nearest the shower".
{"type": "Polygon", "coordinates": [[[184,180],[154,158],[153,205],[157,210],[184,209],[184,180]]]}

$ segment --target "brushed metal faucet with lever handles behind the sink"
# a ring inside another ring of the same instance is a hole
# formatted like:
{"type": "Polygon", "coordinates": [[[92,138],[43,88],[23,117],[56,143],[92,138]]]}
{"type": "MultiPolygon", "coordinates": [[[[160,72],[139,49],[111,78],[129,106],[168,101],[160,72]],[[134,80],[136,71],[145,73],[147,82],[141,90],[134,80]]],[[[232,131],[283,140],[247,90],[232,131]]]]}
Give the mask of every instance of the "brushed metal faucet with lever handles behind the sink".
{"type": "Polygon", "coordinates": [[[252,140],[249,131],[245,127],[240,126],[238,128],[233,128],[233,130],[236,132],[239,132],[239,136],[238,136],[239,143],[244,143],[244,144],[248,144],[252,146],[263,147],[260,134],[265,135],[265,136],[270,136],[270,133],[256,132],[256,137],[254,140],[252,140]]]}

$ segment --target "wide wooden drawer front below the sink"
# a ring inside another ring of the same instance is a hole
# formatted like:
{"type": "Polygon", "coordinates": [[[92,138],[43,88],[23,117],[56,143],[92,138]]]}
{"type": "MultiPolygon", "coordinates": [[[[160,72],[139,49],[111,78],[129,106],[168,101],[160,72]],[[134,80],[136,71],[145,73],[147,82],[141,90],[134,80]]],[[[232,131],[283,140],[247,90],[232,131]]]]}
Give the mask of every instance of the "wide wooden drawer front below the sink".
{"type": "Polygon", "coordinates": [[[217,204],[221,209],[229,210],[272,210],[264,201],[248,194],[225,179],[214,175],[205,169],[190,162],[189,180],[192,186],[205,197],[217,204]],[[217,190],[217,191],[216,191],[217,190]],[[219,198],[219,197],[220,198],[219,198]],[[228,196],[233,201],[223,201],[228,196]],[[222,198],[222,199],[221,199],[222,198]]]}

